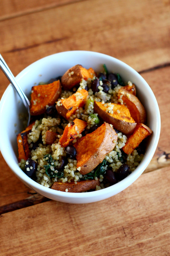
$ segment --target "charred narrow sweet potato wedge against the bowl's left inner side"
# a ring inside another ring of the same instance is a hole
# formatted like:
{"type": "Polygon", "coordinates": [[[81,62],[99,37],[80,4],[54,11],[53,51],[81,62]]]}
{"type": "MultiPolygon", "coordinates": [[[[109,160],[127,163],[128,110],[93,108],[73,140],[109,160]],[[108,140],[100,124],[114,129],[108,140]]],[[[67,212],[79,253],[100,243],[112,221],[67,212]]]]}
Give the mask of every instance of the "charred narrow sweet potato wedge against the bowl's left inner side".
{"type": "Polygon", "coordinates": [[[21,161],[21,159],[27,160],[30,156],[29,143],[27,141],[27,134],[29,134],[31,132],[34,124],[35,124],[35,122],[32,123],[31,125],[29,125],[24,131],[17,134],[19,162],[21,161]]]}

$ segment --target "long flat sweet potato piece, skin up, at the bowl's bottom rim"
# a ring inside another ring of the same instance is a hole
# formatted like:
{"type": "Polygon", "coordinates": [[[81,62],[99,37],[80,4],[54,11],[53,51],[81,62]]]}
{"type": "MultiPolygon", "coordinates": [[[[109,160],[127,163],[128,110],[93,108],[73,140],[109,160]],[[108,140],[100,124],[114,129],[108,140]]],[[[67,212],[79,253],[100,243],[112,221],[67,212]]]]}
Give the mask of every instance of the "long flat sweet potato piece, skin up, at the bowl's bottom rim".
{"type": "Polygon", "coordinates": [[[88,180],[88,181],[78,181],[77,184],[74,182],[67,182],[67,183],[62,183],[62,182],[54,182],[52,185],[52,189],[59,190],[59,191],[66,191],[68,189],[68,192],[71,193],[80,193],[84,192],[90,189],[95,189],[96,186],[100,185],[99,179],[96,180],[88,180]]]}

